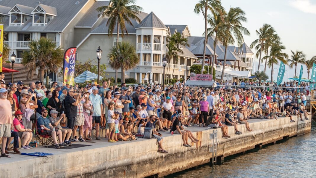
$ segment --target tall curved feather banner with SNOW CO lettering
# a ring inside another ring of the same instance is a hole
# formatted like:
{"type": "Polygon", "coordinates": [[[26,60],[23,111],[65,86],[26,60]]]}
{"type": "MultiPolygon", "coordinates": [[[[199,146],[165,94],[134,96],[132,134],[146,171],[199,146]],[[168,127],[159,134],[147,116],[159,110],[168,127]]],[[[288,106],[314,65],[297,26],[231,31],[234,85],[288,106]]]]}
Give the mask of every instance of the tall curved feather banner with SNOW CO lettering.
{"type": "Polygon", "coordinates": [[[76,47],[68,48],[64,54],[64,75],[63,83],[74,85],[76,47]]]}

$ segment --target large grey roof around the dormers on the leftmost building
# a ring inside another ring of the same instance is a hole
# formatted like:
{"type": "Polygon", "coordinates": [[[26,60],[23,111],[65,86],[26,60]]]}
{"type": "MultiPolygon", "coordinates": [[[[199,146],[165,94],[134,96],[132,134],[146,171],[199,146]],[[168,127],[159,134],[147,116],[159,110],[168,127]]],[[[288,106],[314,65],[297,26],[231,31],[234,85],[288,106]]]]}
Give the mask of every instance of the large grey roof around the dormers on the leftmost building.
{"type": "MultiPolygon", "coordinates": [[[[33,9],[39,4],[39,0],[2,0],[0,1],[0,5],[6,7],[14,7],[16,3],[21,4],[20,7],[23,8],[24,13],[31,13],[33,9]],[[32,7],[29,8],[29,7],[32,7]]],[[[76,16],[76,14],[82,9],[82,7],[87,4],[88,1],[91,0],[40,0],[41,4],[54,7],[57,9],[57,16],[53,18],[50,22],[45,26],[32,26],[32,18],[26,21],[22,26],[9,26],[9,19],[3,22],[4,31],[22,31],[22,32],[41,32],[41,31],[57,31],[62,32],[62,30],[67,27],[69,22],[76,16]],[[76,2],[80,2],[79,4],[75,4],[76,2]]],[[[94,0],[92,0],[93,3],[94,0]]],[[[20,8],[19,7],[19,8],[20,8]]],[[[21,9],[22,10],[22,9],[21,9]]]]}

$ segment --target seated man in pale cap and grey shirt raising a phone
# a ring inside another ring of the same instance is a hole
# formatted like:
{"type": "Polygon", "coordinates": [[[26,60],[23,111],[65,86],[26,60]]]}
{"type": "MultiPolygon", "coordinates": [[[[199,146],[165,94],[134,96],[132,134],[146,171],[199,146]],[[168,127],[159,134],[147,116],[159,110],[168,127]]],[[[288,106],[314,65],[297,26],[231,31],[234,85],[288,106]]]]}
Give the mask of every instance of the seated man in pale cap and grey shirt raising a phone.
{"type": "Polygon", "coordinates": [[[63,129],[60,126],[60,122],[66,122],[66,116],[65,114],[61,114],[60,115],[60,119],[57,117],[57,114],[59,112],[56,111],[55,109],[51,110],[51,117],[49,118],[49,121],[51,122],[52,126],[55,128],[58,128],[58,130],[61,130],[62,134],[63,134],[63,139],[65,140],[66,144],[69,144],[71,146],[71,142],[69,141],[69,138],[71,136],[72,130],[71,129],[63,129]]]}

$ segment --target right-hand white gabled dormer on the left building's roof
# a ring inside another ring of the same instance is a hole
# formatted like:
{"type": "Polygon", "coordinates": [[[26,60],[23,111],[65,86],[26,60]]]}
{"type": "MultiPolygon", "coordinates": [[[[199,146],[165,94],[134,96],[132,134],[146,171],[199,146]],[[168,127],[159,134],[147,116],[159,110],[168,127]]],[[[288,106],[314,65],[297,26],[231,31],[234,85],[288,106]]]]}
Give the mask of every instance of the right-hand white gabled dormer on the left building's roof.
{"type": "Polygon", "coordinates": [[[57,15],[57,10],[39,3],[31,14],[33,15],[33,26],[45,26],[57,15]]]}

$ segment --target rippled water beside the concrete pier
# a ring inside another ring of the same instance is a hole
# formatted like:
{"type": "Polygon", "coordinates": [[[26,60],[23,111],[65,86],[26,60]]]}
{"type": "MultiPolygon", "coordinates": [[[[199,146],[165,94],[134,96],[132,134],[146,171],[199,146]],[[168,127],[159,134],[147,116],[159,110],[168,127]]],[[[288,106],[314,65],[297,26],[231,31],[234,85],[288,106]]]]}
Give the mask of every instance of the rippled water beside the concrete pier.
{"type": "Polygon", "coordinates": [[[165,176],[171,177],[315,178],[316,122],[312,121],[312,131],[305,135],[249,150],[246,154],[225,157],[224,161],[215,166],[208,163],[165,176]]]}

